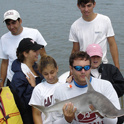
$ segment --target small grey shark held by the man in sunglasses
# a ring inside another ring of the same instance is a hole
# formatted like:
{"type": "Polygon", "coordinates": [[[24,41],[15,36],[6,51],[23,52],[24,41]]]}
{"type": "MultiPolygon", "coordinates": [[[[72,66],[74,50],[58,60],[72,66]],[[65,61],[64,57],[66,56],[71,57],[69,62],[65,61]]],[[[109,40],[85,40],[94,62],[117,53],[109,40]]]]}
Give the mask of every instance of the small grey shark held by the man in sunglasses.
{"type": "Polygon", "coordinates": [[[87,77],[85,77],[85,79],[88,86],[86,93],[64,101],[59,101],[56,99],[56,103],[49,107],[38,105],[32,106],[43,112],[45,114],[45,119],[48,117],[48,113],[50,112],[62,113],[63,106],[70,102],[77,108],[76,113],[78,114],[85,114],[86,112],[99,112],[100,115],[107,118],[116,118],[124,115],[123,109],[117,109],[107,97],[93,89],[87,77]],[[89,105],[93,105],[93,111],[89,109],[89,105]]]}

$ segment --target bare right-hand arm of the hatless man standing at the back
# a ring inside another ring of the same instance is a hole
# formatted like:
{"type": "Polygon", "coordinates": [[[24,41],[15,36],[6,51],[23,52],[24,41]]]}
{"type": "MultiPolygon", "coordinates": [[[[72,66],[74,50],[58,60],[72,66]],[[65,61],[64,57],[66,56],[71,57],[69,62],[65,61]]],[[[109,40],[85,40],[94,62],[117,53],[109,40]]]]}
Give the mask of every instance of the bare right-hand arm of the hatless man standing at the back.
{"type": "Polygon", "coordinates": [[[109,48],[110,48],[110,52],[111,52],[113,62],[115,64],[115,66],[118,69],[120,69],[118,47],[117,47],[115,38],[114,38],[114,36],[112,36],[112,37],[108,37],[107,39],[108,39],[109,48]]]}

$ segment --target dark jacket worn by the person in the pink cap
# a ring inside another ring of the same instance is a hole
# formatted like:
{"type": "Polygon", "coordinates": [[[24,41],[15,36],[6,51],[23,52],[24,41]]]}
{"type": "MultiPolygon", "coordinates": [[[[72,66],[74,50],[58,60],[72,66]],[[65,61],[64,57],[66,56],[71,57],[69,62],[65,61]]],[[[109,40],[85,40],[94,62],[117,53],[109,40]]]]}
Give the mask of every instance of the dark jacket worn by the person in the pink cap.
{"type": "Polygon", "coordinates": [[[102,63],[98,67],[98,72],[101,74],[101,79],[112,83],[118,97],[122,97],[124,94],[124,78],[119,69],[112,64],[102,63]]]}

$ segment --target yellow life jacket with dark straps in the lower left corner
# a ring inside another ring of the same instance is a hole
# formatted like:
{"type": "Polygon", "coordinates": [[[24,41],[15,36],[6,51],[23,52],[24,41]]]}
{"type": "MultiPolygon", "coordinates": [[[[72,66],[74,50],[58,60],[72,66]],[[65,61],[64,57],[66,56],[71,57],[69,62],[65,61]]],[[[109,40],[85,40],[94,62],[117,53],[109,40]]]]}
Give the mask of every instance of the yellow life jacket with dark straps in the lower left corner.
{"type": "Polygon", "coordinates": [[[0,101],[2,104],[2,108],[0,107],[0,124],[23,124],[9,87],[2,87],[0,101]]]}

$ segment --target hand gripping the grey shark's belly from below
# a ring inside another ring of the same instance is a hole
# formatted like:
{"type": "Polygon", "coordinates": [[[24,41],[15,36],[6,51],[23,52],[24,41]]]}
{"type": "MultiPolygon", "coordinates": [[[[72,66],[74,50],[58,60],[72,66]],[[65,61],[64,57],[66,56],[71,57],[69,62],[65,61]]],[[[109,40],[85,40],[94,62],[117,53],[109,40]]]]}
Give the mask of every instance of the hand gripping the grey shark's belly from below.
{"type": "Polygon", "coordinates": [[[67,103],[63,106],[63,114],[67,122],[71,123],[73,121],[76,110],[77,108],[72,103],[67,103]]]}

